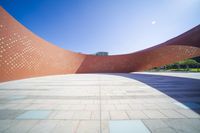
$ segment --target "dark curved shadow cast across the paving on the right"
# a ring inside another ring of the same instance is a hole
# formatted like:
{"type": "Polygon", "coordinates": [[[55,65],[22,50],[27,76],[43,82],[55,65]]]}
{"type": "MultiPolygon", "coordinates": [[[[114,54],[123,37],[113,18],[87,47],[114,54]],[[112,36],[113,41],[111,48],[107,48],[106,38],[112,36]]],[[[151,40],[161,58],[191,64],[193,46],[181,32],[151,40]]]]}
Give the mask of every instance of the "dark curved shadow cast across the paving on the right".
{"type": "Polygon", "coordinates": [[[192,78],[150,75],[113,74],[143,82],[200,114],[200,80],[192,78]]]}

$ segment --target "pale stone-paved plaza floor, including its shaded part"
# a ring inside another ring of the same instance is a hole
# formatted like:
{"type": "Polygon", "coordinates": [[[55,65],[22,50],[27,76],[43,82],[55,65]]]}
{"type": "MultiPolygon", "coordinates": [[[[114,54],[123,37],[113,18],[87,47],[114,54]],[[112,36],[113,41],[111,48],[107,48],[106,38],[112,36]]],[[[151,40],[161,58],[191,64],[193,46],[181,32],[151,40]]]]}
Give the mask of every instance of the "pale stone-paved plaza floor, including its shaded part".
{"type": "Polygon", "coordinates": [[[199,133],[200,74],[47,76],[0,84],[3,133],[199,133]]]}

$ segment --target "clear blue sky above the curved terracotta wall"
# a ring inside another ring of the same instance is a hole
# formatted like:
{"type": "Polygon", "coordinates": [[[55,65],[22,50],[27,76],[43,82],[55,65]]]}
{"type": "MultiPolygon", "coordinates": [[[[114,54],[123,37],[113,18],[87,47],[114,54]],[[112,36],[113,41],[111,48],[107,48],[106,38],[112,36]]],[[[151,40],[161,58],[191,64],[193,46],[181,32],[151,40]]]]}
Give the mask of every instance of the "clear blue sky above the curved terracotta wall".
{"type": "Polygon", "coordinates": [[[0,5],[45,40],[88,54],[135,52],[200,24],[200,0],[0,0],[0,5]]]}

